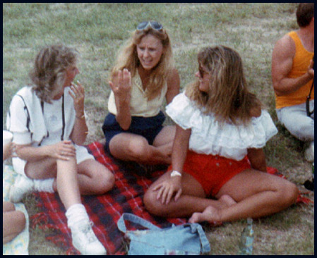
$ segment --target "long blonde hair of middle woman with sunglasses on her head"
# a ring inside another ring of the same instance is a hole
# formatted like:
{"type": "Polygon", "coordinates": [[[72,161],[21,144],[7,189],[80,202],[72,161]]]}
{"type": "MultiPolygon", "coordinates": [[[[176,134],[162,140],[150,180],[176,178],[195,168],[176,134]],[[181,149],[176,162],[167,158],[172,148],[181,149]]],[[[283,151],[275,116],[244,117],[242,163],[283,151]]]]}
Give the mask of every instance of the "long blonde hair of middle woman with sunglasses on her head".
{"type": "Polygon", "coordinates": [[[136,46],[140,44],[141,40],[146,35],[152,35],[157,39],[160,39],[164,49],[159,63],[157,63],[155,68],[152,68],[148,85],[146,85],[145,96],[148,100],[151,100],[160,94],[162,87],[165,85],[167,77],[173,68],[172,46],[169,35],[165,29],[154,30],[152,27],[148,27],[145,30],[135,30],[123,49],[119,51],[116,65],[112,68],[112,72],[110,73],[110,80],[113,79],[119,70],[123,70],[124,68],[127,68],[131,72],[132,78],[136,75],[136,69],[140,66],[136,46]]]}

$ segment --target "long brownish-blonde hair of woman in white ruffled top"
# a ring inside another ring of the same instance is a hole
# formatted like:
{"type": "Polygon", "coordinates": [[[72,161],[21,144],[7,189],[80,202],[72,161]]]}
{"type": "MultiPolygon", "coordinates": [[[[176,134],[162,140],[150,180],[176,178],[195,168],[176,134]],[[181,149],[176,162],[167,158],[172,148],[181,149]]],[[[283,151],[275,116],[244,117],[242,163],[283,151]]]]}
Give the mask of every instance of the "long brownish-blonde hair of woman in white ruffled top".
{"type": "Polygon", "coordinates": [[[224,46],[206,47],[198,53],[198,63],[210,73],[209,90],[201,92],[196,80],[186,87],[189,99],[203,113],[213,113],[219,123],[249,123],[251,110],[261,110],[261,102],[247,88],[237,51],[224,46]]]}

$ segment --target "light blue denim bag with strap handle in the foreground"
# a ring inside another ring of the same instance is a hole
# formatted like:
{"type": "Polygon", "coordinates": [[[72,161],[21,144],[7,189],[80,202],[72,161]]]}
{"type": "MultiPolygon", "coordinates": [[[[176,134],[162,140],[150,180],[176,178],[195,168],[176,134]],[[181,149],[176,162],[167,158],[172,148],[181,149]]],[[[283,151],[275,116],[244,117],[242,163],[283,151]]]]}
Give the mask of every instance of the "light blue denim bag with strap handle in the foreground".
{"type": "Polygon", "coordinates": [[[210,252],[209,241],[198,223],[159,228],[134,214],[124,213],[117,222],[119,230],[130,240],[129,255],[201,254],[210,252]],[[128,231],[124,221],[145,230],[128,231]]]}

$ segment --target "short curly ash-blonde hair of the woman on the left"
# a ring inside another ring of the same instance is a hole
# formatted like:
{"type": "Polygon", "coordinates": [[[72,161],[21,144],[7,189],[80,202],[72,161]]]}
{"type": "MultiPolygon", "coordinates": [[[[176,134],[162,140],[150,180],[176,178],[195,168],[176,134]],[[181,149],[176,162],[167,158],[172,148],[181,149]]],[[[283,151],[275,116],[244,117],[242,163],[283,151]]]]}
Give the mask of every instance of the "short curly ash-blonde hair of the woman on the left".
{"type": "Polygon", "coordinates": [[[35,57],[30,71],[32,90],[43,102],[52,103],[52,92],[64,85],[66,68],[76,63],[78,51],[62,44],[44,47],[35,57]]]}

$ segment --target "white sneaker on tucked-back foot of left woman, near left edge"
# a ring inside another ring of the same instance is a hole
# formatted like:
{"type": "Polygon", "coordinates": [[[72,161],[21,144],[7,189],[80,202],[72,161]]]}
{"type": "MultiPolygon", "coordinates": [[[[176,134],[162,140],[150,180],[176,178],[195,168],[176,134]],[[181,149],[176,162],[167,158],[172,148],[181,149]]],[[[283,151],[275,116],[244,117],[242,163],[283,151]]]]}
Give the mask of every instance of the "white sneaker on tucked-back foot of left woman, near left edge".
{"type": "Polygon", "coordinates": [[[9,198],[13,203],[20,202],[23,196],[28,192],[33,192],[34,183],[31,178],[27,176],[18,175],[14,185],[11,185],[9,198]]]}

